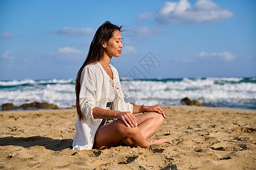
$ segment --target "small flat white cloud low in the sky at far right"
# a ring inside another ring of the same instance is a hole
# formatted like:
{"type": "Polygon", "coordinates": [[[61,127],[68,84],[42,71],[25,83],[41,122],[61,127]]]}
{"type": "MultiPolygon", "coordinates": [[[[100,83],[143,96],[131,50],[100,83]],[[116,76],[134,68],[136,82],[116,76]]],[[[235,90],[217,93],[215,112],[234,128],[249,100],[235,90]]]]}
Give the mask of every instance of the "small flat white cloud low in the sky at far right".
{"type": "Polygon", "coordinates": [[[233,54],[231,54],[229,52],[220,52],[220,53],[205,53],[205,52],[201,52],[199,54],[199,57],[201,57],[201,58],[218,57],[218,58],[223,59],[224,61],[232,61],[234,58],[236,58],[236,56],[234,56],[233,54]]]}

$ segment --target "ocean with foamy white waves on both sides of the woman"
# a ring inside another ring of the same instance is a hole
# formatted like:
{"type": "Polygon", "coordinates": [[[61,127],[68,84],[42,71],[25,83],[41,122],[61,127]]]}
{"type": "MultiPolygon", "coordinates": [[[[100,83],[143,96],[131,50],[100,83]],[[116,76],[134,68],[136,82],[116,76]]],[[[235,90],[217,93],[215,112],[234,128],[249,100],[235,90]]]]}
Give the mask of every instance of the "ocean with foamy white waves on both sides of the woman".
{"type": "MultiPolygon", "coordinates": [[[[0,81],[0,105],[47,102],[75,108],[75,79],[0,81]]],[[[256,78],[121,78],[125,100],[137,105],[181,105],[188,97],[209,107],[256,109],[256,78]]]]}

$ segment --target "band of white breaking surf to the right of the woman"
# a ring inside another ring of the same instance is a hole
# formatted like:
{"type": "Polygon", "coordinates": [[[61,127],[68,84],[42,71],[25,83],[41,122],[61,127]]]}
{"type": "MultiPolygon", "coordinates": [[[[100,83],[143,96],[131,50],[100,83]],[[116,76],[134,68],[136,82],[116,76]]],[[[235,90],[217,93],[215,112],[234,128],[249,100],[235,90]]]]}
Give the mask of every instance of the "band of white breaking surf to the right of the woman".
{"type": "Polygon", "coordinates": [[[122,81],[128,101],[135,104],[161,105],[180,104],[180,100],[189,97],[201,103],[218,103],[221,101],[245,103],[256,101],[255,83],[240,82],[242,78],[207,78],[188,79],[174,82],[157,81],[122,81]],[[229,81],[217,84],[216,81],[229,81]]]}

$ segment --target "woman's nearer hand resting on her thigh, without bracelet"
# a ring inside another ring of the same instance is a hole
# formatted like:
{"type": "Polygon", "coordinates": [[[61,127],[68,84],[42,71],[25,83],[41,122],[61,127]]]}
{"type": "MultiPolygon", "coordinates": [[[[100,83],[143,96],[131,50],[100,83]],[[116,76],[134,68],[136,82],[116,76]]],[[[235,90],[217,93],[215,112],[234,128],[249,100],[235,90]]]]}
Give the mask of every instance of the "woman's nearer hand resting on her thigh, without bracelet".
{"type": "Polygon", "coordinates": [[[137,118],[131,112],[119,112],[117,119],[122,120],[126,126],[137,127],[137,118]]]}

